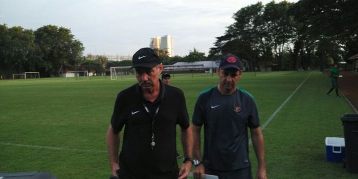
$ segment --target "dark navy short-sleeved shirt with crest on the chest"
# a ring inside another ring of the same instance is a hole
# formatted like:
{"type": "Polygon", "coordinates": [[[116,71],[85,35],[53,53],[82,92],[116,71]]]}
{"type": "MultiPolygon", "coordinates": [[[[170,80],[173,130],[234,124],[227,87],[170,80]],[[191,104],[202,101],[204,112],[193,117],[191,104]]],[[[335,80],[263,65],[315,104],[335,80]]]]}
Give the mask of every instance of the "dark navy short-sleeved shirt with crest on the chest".
{"type": "Polygon", "coordinates": [[[237,88],[222,95],[217,86],[197,98],[193,121],[204,125],[204,165],[215,170],[236,170],[250,166],[248,127],[260,126],[254,98],[237,88]]]}

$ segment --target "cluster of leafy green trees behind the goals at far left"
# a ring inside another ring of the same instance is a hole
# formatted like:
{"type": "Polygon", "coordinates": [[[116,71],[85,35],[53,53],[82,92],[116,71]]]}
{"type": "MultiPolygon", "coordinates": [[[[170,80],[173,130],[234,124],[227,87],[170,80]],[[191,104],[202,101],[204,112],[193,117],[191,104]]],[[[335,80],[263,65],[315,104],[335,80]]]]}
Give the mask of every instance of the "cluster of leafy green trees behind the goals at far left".
{"type": "Polygon", "coordinates": [[[83,44],[70,29],[48,25],[32,31],[4,24],[0,34],[0,73],[5,78],[24,72],[58,76],[63,66],[83,61],[83,44]]]}

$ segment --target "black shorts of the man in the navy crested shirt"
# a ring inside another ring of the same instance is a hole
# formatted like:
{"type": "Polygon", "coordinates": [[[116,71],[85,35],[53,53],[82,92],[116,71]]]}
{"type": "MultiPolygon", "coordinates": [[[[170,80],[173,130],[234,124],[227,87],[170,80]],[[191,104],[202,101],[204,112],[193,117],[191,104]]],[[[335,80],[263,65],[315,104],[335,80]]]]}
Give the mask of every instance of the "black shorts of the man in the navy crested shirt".
{"type": "Polygon", "coordinates": [[[219,179],[252,179],[251,166],[238,170],[213,170],[205,167],[205,174],[216,175],[219,179]]]}

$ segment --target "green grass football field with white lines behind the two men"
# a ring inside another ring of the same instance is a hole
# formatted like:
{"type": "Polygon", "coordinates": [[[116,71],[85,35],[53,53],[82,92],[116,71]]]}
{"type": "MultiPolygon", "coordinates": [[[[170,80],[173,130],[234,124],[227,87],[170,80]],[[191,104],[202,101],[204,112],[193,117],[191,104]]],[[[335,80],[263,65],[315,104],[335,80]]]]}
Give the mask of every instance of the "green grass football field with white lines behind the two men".
{"type": "MultiPolygon", "coordinates": [[[[58,178],[109,178],[105,144],[109,119],[117,93],[135,82],[134,76],[113,81],[109,77],[0,81],[0,173],[47,171],[58,178]]],[[[215,74],[172,76],[172,85],[185,93],[189,116],[197,95],[217,82],[215,74]]],[[[326,161],[325,137],[343,137],[340,117],[353,114],[344,98],[325,95],[330,87],[326,75],[244,73],[238,86],[255,97],[261,124],[276,114],[262,130],[269,178],[358,177],[347,173],[342,163],[326,161]]],[[[255,173],[252,146],[250,157],[255,173]]]]}

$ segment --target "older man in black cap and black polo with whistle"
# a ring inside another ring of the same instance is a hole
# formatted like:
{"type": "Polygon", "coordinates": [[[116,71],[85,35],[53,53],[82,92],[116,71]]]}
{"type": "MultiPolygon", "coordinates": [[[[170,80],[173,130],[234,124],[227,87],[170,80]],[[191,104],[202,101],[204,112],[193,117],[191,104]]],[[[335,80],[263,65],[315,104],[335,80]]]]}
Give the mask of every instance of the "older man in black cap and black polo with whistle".
{"type": "Polygon", "coordinates": [[[107,131],[112,175],[126,179],[187,178],[192,166],[192,137],[184,94],[159,79],[163,64],[152,49],[140,49],[132,62],[137,83],[118,94],[107,131]],[[176,161],[176,124],[182,128],[187,157],[180,169],[176,161]]]}

